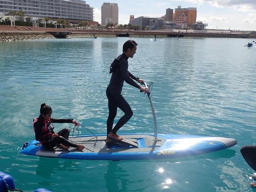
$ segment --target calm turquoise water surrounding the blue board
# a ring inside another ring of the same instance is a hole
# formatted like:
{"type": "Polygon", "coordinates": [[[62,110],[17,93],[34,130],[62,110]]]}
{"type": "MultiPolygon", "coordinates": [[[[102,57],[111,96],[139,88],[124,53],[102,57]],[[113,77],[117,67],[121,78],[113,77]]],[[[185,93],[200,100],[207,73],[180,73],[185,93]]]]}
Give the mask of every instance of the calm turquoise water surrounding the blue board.
{"type": "MultiPolygon", "coordinates": [[[[240,154],[255,144],[256,46],[254,39],[134,38],[129,70],[154,81],[158,132],[231,137],[238,144],[200,156],[157,161],[89,161],[19,154],[34,139],[40,104],[52,117],[74,118],[95,134],[106,132],[109,65],[129,38],[74,38],[0,44],[0,171],[16,187],[33,191],[256,191],[253,170],[240,154]]],[[[134,111],[119,133],[153,133],[150,103],[124,84],[134,111]]],[[[118,117],[122,113],[118,111],[118,117]]],[[[72,128],[55,124],[55,129],[72,128]]],[[[85,129],[83,135],[89,134],[85,129]]]]}

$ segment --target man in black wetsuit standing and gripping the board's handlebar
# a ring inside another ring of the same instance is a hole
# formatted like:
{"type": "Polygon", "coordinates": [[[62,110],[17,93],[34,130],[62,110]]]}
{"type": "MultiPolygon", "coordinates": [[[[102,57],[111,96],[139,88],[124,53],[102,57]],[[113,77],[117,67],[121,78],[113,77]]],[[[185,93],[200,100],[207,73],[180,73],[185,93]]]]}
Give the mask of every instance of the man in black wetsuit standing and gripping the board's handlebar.
{"type": "Polygon", "coordinates": [[[133,115],[133,111],[127,101],[121,95],[123,82],[147,93],[147,89],[140,87],[134,80],[142,83],[143,80],[135,77],[128,71],[128,59],[133,58],[137,50],[137,43],[134,40],[127,40],[123,44],[123,53],[118,56],[118,65],[112,73],[110,83],[106,89],[108,97],[109,117],[106,121],[107,138],[106,142],[111,140],[122,140],[123,138],[117,135],[117,131],[123,126],[133,115]],[[114,119],[117,114],[117,108],[123,111],[124,115],[118,120],[113,128],[114,119]]]}

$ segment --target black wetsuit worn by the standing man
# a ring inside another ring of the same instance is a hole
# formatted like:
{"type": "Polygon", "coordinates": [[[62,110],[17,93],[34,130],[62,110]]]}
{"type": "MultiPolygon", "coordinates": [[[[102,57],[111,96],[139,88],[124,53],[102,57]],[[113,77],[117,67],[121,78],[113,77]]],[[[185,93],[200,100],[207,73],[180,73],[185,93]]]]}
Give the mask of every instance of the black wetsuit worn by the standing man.
{"type": "Polygon", "coordinates": [[[106,96],[109,100],[109,117],[106,121],[107,134],[115,133],[123,126],[132,116],[133,111],[127,101],[121,95],[123,81],[135,88],[140,86],[134,81],[136,77],[128,71],[128,57],[123,53],[118,56],[120,60],[116,70],[113,72],[108,88],[106,89],[106,96]],[[134,80],[133,80],[134,79],[134,80]],[[118,120],[114,129],[112,130],[114,119],[117,114],[117,108],[124,112],[124,115],[118,120]]]}

